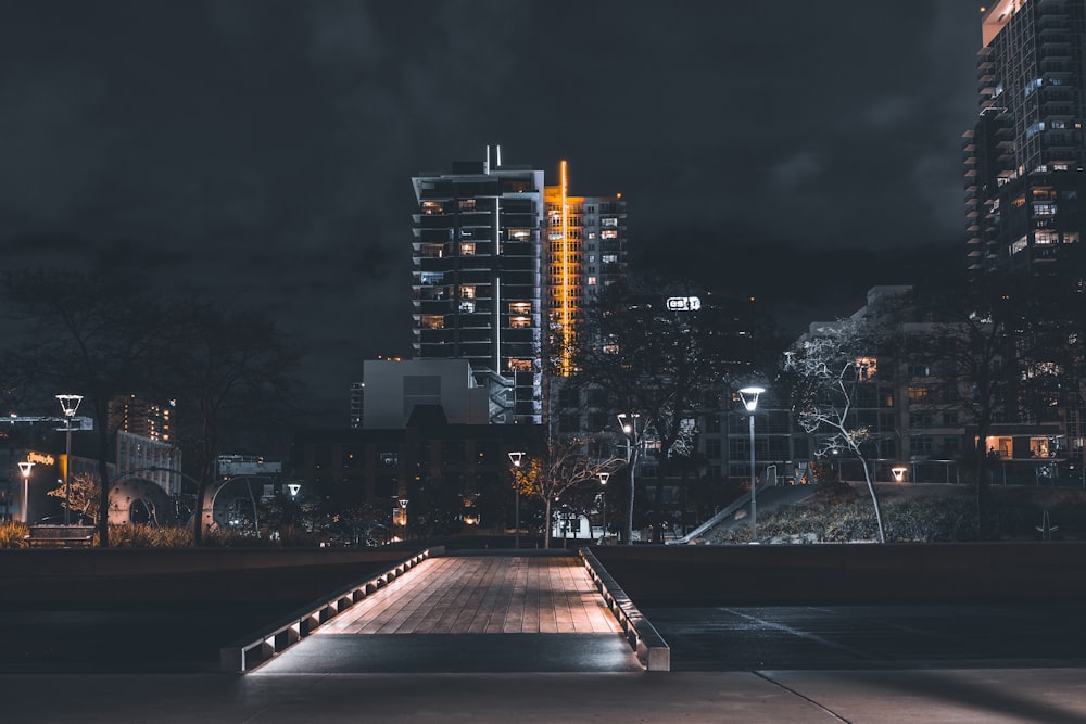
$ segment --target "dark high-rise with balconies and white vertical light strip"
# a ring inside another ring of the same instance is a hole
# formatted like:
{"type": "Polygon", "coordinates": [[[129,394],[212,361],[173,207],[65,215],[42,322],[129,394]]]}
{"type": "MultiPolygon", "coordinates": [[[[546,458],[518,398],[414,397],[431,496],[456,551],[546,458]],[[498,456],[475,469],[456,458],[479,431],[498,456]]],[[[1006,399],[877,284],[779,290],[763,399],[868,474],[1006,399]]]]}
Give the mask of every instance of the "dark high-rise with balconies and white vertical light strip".
{"type": "Polygon", "coordinates": [[[412,182],[415,357],[469,360],[491,422],[541,422],[543,172],[488,147],[412,182]]]}

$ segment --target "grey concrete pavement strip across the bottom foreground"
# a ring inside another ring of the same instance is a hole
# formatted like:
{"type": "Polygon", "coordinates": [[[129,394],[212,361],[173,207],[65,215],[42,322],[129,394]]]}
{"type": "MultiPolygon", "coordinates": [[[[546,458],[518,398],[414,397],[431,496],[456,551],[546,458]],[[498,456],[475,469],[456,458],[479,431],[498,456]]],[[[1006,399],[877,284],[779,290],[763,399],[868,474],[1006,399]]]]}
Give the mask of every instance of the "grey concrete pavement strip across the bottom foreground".
{"type": "Polygon", "coordinates": [[[1082,724],[1086,670],[0,676],[5,722],[1082,724]]]}

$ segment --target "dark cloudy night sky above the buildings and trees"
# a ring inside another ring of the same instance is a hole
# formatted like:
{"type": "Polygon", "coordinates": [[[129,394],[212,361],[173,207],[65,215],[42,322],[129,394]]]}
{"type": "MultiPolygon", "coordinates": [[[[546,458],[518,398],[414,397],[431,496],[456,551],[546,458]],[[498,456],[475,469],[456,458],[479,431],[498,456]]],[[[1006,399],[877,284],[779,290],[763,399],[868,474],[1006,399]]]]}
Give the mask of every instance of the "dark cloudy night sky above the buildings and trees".
{"type": "Polygon", "coordinates": [[[833,318],[954,263],[978,47],[971,0],[9,1],[0,258],[265,308],[345,424],[409,355],[413,174],[566,158],[634,270],[833,318]]]}

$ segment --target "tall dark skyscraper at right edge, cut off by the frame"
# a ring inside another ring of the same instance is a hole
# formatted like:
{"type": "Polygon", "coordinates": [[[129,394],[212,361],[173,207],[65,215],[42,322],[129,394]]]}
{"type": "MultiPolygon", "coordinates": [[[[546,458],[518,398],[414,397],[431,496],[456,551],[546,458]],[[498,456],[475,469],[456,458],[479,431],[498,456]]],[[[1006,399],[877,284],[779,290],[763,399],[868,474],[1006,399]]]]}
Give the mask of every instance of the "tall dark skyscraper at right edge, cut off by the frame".
{"type": "Polygon", "coordinates": [[[980,117],[964,135],[967,266],[1083,274],[1086,3],[999,0],[983,11],[980,117]]]}

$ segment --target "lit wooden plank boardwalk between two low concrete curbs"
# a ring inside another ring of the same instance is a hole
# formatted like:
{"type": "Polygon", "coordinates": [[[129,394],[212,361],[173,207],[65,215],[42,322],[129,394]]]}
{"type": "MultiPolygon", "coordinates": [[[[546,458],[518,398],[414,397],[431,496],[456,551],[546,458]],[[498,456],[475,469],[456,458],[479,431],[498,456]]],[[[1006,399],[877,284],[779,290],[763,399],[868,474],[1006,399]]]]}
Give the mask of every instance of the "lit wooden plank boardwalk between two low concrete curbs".
{"type": "Polygon", "coordinates": [[[621,627],[580,559],[430,558],[319,634],[602,634],[621,627]]]}

